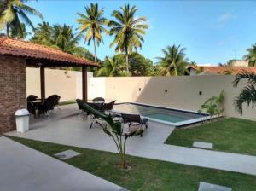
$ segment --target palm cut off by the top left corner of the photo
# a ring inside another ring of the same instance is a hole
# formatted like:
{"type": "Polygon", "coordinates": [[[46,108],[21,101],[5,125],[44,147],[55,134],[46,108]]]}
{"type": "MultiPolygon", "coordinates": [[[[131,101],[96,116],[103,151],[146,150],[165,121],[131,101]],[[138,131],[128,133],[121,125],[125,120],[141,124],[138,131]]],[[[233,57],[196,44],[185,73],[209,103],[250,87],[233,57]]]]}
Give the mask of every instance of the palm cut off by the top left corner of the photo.
{"type": "Polygon", "coordinates": [[[6,28],[6,35],[10,36],[10,28],[15,29],[18,33],[22,34],[22,23],[24,21],[27,26],[32,27],[32,21],[28,18],[27,14],[37,15],[43,18],[36,9],[27,6],[24,2],[26,0],[2,0],[0,4],[0,30],[6,28]]]}

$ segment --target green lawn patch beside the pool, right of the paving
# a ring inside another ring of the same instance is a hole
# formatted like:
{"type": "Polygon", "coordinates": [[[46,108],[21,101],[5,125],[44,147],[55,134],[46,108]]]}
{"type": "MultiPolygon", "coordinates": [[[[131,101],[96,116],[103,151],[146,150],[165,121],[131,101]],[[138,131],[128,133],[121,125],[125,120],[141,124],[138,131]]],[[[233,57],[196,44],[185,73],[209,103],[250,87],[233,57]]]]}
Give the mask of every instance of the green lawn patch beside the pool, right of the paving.
{"type": "Polygon", "coordinates": [[[191,147],[194,141],[212,142],[213,149],[218,151],[256,155],[256,122],[230,118],[176,129],[166,144],[191,147]]]}

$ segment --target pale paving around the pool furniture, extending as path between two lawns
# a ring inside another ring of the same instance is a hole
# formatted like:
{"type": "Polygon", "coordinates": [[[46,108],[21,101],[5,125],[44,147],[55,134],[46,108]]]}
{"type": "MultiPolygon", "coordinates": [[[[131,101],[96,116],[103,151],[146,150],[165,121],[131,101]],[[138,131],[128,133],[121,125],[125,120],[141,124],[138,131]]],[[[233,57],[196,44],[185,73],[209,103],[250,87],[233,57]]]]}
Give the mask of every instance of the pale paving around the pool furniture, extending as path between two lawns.
{"type": "MultiPolygon", "coordinates": [[[[50,122],[43,121],[33,124],[32,130],[26,133],[12,131],[7,135],[117,152],[113,140],[105,135],[99,126],[95,125],[92,129],[89,127],[90,122],[77,115],[50,122]]],[[[143,137],[129,138],[126,153],[148,159],[256,175],[255,156],[166,145],[164,142],[172,130],[174,130],[172,126],[149,122],[148,130],[143,133],[143,137]]]]}

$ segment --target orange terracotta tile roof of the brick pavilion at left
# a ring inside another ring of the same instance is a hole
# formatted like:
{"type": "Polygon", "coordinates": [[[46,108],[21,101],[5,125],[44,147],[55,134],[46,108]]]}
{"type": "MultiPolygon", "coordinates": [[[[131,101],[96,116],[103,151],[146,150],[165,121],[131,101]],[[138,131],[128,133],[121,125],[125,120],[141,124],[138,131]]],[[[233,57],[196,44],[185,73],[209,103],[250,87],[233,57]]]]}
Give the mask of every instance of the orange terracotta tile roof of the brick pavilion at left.
{"type": "Polygon", "coordinates": [[[97,65],[91,61],[77,55],[65,53],[59,49],[7,37],[0,37],[0,55],[20,56],[39,61],[53,61],[54,63],[64,65],[71,64],[97,67],[97,65]]]}

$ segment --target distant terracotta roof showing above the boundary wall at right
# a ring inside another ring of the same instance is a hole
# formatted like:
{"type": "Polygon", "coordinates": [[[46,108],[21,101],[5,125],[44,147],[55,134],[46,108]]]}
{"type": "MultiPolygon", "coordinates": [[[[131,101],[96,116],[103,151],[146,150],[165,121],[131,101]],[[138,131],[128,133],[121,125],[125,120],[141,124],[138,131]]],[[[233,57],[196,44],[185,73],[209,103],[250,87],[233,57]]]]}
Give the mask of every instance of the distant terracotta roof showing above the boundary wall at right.
{"type": "Polygon", "coordinates": [[[201,70],[203,68],[203,72],[215,72],[216,74],[224,74],[225,72],[231,72],[231,74],[237,74],[241,71],[254,72],[256,73],[256,67],[203,67],[203,66],[190,66],[195,70],[201,70]]]}

